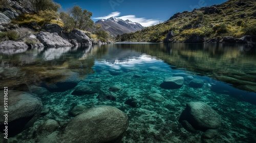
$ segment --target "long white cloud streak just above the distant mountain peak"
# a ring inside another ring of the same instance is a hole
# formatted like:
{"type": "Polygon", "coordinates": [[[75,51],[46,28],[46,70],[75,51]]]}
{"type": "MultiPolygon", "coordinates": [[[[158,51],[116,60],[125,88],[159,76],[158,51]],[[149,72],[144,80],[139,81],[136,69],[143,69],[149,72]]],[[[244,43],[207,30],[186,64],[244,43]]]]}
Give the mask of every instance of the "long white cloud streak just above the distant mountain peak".
{"type": "Polygon", "coordinates": [[[159,22],[162,22],[162,21],[159,21],[158,19],[146,19],[145,17],[140,17],[139,18],[139,17],[136,17],[135,15],[124,15],[124,16],[118,17],[120,14],[121,14],[120,12],[116,11],[116,12],[112,12],[108,16],[96,17],[94,19],[108,19],[108,18],[113,16],[113,17],[120,18],[120,19],[123,19],[123,20],[129,19],[133,22],[138,22],[143,27],[149,27],[149,26],[152,26],[152,25],[156,25],[159,22]]]}

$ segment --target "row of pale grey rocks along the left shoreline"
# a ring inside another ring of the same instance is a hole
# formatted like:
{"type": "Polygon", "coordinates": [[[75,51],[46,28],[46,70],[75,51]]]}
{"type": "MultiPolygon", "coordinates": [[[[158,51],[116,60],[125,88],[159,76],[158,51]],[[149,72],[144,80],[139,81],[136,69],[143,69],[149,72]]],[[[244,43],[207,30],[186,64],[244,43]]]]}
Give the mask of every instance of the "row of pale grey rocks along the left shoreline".
{"type": "Polygon", "coordinates": [[[56,24],[46,25],[47,32],[39,32],[30,34],[25,37],[36,41],[35,43],[25,43],[24,41],[7,40],[0,42],[0,49],[28,49],[28,47],[61,47],[61,46],[75,46],[84,44],[107,44],[112,41],[102,42],[100,39],[91,38],[91,33],[82,30],[74,29],[69,33],[63,32],[61,27],[56,24]]]}

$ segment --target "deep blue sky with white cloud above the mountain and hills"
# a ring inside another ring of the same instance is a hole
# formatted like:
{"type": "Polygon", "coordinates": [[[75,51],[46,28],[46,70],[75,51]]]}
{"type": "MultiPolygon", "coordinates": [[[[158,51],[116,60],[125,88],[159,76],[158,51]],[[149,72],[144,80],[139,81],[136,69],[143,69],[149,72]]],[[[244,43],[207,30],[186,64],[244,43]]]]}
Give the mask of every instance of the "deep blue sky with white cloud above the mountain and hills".
{"type": "Polygon", "coordinates": [[[75,5],[91,11],[93,13],[91,18],[94,21],[114,16],[122,18],[123,20],[129,19],[133,22],[139,22],[144,27],[166,21],[177,12],[183,12],[185,10],[192,11],[194,8],[218,5],[226,1],[227,0],[54,0],[54,2],[60,4],[65,11],[75,5]]]}

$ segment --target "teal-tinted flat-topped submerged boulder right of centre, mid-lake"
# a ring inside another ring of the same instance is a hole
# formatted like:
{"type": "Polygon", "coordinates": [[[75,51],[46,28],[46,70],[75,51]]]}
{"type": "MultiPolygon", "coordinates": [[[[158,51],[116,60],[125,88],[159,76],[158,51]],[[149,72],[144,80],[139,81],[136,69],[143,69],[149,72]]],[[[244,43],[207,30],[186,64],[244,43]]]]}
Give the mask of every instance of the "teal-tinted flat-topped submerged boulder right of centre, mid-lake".
{"type": "Polygon", "coordinates": [[[163,89],[177,89],[184,84],[183,77],[168,77],[165,78],[163,83],[160,84],[160,87],[163,89]]]}

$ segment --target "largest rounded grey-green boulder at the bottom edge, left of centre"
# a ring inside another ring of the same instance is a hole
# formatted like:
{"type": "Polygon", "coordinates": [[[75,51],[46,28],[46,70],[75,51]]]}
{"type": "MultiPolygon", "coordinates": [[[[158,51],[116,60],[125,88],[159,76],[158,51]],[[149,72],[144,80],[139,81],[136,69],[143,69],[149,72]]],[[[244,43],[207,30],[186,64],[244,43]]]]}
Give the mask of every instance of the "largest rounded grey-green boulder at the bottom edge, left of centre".
{"type": "Polygon", "coordinates": [[[129,125],[127,115],[111,106],[87,109],[74,117],[60,134],[61,142],[121,142],[129,125]]]}

